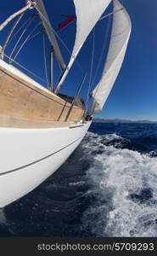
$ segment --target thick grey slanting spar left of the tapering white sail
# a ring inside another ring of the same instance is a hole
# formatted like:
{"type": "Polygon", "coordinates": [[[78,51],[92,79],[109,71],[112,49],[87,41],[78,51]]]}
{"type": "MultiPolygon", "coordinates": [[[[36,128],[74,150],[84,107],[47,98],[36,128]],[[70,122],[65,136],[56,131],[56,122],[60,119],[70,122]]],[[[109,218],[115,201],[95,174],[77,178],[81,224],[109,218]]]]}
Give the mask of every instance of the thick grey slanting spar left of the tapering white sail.
{"type": "Polygon", "coordinates": [[[42,24],[45,27],[45,30],[48,34],[48,39],[53,46],[54,54],[56,55],[56,58],[59,61],[60,67],[64,70],[66,65],[64,64],[64,59],[60,52],[59,45],[57,43],[55,35],[53,33],[53,28],[48,19],[48,15],[47,15],[46,9],[44,7],[44,4],[43,4],[42,0],[34,0],[34,1],[36,3],[36,9],[40,15],[41,20],[42,20],[42,24]]]}

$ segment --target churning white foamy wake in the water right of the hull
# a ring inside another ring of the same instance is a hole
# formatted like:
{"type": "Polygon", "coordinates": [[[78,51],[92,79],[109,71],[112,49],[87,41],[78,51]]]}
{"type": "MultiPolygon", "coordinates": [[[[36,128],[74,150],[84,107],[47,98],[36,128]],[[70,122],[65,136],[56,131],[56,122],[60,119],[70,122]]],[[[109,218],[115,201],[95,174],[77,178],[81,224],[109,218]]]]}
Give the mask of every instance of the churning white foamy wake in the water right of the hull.
{"type": "Polygon", "coordinates": [[[87,133],[82,146],[93,164],[87,170],[95,200],[82,217],[93,236],[157,236],[157,159],[129,140],[87,133]]]}

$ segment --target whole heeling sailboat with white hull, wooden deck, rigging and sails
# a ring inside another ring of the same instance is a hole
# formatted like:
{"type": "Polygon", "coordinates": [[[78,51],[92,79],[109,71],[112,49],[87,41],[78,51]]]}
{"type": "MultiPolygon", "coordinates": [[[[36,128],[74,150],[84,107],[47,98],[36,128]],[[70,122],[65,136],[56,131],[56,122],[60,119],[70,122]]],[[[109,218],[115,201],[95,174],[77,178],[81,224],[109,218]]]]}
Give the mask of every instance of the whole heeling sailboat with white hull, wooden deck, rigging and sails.
{"type": "Polygon", "coordinates": [[[26,1],[24,8],[0,25],[1,32],[7,29],[11,20],[15,20],[0,47],[0,207],[35,189],[68,159],[85,137],[93,114],[104,107],[120,72],[132,26],[126,9],[118,0],[72,2],[76,9],[76,40],[68,64],[64,63],[56,32],[42,0],[26,1]],[[101,79],[90,93],[93,101],[87,108],[79,96],[85,78],[79,84],[76,96],[62,95],[59,90],[88,35],[101,22],[111,2],[113,12],[110,14],[112,27],[108,54],[101,79]],[[21,68],[14,67],[14,58],[5,51],[22,16],[32,9],[39,15],[52,46],[49,89],[21,68]],[[59,61],[62,70],[54,88],[51,80],[52,55],[59,61]]]}

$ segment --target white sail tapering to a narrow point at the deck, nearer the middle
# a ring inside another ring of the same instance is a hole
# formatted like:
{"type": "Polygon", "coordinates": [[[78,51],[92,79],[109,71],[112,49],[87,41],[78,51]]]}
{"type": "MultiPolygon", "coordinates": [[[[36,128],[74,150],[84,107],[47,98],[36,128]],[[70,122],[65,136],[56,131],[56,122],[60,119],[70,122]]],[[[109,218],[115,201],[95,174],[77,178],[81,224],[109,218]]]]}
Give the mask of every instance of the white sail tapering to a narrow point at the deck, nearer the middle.
{"type": "Polygon", "coordinates": [[[74,0],[76,7],[76,42],[72,51],[69,65],[64,72],[62,78],[59,80],[57,90],[61,87],[66,78],[70,67],[76,60],[82,45],[85,43],[87,36],[93,30],[93,27],[98,22],[104,10],[107,9],[111,0],[74,0]]]}

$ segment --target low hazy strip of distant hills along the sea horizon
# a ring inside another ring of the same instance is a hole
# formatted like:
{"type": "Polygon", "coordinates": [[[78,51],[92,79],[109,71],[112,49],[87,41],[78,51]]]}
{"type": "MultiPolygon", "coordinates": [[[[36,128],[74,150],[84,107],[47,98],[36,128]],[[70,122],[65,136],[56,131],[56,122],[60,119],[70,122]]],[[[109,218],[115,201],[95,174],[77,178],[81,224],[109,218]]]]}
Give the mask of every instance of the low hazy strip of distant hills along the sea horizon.
{"type": "Polygon", "coordinates": [[[119,124],[157,124],[157,121],[150,120],[129,120],[129,119],[93,119],[93,123],[119,123],[119,124]]]}

